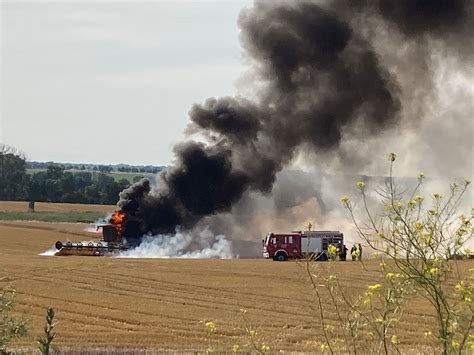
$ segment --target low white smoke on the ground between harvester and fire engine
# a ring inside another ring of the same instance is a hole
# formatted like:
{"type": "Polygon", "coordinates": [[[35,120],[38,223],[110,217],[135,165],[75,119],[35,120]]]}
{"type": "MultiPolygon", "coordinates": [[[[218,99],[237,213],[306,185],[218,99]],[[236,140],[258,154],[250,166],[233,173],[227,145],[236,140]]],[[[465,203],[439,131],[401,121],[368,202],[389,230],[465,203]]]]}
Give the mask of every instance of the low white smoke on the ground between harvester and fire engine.
{"type": "Polygon", "coordinates": [[[146,235],[141,244],[120,253],[119,258],[231,259],[232,243],[208,228],[199,233],[176,231],[174,235],[146,235]]]}

